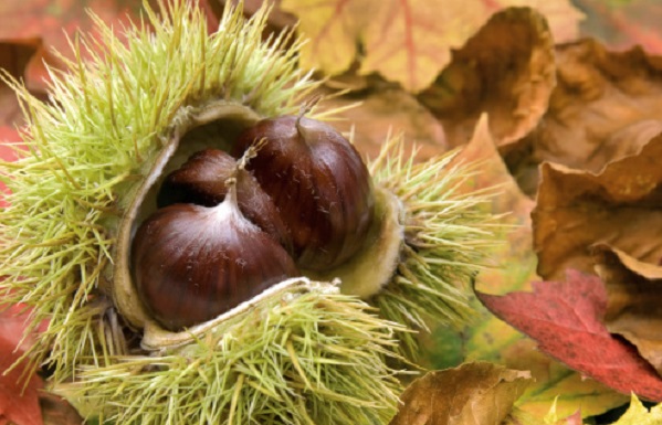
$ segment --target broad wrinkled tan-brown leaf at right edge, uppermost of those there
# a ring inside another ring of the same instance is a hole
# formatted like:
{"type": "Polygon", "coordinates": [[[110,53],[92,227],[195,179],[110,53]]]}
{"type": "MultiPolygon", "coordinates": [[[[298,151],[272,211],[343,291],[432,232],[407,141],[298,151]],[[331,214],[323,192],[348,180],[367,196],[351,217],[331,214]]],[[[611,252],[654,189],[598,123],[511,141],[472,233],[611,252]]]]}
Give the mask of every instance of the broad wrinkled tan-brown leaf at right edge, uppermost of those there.
{"type": "Polygon", "coordinates": [[[595,40],[556,50],[549,109],[506,162],[529,194],[543,161],[599,172],[637,152],[662,124],[662,57],[610,52],[595,40]]]}

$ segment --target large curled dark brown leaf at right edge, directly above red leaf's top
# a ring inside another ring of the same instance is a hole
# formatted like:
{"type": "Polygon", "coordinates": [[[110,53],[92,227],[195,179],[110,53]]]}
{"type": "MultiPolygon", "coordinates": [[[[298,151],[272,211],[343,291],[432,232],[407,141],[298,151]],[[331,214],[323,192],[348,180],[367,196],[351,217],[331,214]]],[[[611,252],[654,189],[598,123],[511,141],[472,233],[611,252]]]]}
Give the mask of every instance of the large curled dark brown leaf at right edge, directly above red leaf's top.
{"type": "Polygon", "coordinates": [[[545,163],[532,213],[538,274],[563,278],[565,269],[593,269],[599,243],[656,264],[662,258],[662,134],[635,156],[599,174],[545,163]]]}

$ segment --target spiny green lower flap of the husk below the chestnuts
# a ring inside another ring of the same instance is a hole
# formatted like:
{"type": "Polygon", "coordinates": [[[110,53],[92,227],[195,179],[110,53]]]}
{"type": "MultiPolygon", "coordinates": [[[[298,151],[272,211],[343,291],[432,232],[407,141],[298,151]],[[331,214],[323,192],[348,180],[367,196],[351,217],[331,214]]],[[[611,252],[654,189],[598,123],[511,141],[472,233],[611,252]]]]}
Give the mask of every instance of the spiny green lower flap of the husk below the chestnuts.
{"type": "Polygon", "coordinates": [[[86,368],[65,393],[117,424],[385,424],[400,392],[385,358],[403,330],[301,279],[182,349],[86,368]]]}

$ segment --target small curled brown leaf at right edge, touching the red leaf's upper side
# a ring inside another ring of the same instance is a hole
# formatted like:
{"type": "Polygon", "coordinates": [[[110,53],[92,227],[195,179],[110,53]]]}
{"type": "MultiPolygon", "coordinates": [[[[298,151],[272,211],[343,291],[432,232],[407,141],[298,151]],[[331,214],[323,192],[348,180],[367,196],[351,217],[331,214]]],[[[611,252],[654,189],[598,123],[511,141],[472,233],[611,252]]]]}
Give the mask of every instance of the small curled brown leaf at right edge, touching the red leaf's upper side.
{"type": "Polygon", "coordinates": [[[632,342],[662,375],[662,267],[607,245],[596,247],[595,257],[608,294],[607,329],[632,342]]]}

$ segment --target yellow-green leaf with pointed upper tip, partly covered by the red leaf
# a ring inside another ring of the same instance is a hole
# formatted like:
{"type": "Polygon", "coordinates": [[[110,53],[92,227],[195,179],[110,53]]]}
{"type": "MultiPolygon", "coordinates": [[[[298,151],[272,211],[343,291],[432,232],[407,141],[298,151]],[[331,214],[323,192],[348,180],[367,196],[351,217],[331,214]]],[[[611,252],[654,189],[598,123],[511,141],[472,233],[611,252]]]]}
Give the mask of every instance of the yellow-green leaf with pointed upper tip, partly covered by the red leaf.
{"type": "MultiPolygon", "coordinates": [[[[500,236],[505,242],[492,253],[494,267],[482,270],[476,277],[476,288],[487,293],[526,290],[538,279],[535,273],[536,256],[532,247],[530,211],[534,202],[513,180],[496,149],[482,117],[471,141],[459,153],[460,161],[481,163],[475,176],[475,188],[497,185],[500,195],[493,200],[492,211],[504,214],[500,236]]],[[[475,320],[458,333],[437,328],[427,352],[430,369],[455,366],[463,361],[491,361],[509,369],[528,370],[535,382],[518,401],[521,411],[539,419],[557,401],[559,415],[569,416],[581,408],[590,416],[601,414],[627,402],[627,397],[593,380],[585,380],[539,352],[535,343],[507,323],[498,320],[476,301],[475,320]]],[[[539,425],[539,422],[534,422],[539,425]]]]}

